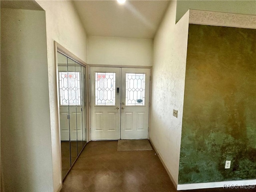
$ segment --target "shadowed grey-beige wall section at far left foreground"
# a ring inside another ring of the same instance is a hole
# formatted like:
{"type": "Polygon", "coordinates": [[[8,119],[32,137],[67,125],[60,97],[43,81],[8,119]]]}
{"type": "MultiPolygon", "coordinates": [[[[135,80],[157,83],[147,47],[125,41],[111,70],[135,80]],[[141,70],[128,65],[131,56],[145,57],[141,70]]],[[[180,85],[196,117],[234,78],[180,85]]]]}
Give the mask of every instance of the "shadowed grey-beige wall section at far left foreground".
{"type": "Polygon", "coordinates": [[[1,9],[1,168],[8,192],[53,191],[45,25],[44,11],[1,9]]]}

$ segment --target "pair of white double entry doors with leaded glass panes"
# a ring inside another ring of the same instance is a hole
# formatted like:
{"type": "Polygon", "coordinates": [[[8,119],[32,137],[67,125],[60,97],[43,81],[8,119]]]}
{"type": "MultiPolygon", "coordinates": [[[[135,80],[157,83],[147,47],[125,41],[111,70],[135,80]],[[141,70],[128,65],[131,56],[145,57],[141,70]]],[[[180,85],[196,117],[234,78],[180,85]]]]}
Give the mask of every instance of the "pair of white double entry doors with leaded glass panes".
{"type": "Polygon", "coordinates": [[[148,138],[150,69],[90,67],[91,139],[148,138]]]}

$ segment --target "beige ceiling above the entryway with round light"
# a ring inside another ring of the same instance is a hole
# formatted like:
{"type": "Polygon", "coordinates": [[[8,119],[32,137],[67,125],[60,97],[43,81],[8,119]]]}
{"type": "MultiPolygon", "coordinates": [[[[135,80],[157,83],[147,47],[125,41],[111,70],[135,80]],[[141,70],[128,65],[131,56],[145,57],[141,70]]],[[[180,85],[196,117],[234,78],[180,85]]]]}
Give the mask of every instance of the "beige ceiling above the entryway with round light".
{"type": "Polygon", "coordinates": [[[88,36],[154,38],[168,0],[73,1],[88,36]]]}

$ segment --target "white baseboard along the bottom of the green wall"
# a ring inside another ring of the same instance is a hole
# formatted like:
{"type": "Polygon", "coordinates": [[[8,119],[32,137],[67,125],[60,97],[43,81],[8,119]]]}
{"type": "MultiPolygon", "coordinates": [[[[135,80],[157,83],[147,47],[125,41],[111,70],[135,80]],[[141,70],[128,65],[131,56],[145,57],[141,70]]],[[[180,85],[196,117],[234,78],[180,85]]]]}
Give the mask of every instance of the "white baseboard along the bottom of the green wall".
{"type": "MultiPolygon", "coordinates": [[[[228,186],[238,188],[241,186],[248,186],[251,189],[256,187],[256,179],[252,180],[238,180],[238,181],[220,181],[208,183],[192,183],[192,184],[178,184],[177,190],[190,190],[190,189],[206,189],[206,188],[224,188],[228,186]]],[[[224,188],[225,189],[225,188],[224,188]]],[[[242,188],[240,188],[242,189],[242,188]]]]}

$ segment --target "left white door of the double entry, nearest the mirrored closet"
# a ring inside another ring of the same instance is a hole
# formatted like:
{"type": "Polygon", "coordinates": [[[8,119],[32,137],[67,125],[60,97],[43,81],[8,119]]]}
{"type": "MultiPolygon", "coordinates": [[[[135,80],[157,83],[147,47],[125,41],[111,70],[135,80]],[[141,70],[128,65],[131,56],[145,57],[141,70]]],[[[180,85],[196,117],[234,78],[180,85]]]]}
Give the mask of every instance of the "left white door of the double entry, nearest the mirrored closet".
{"type": "Polygon", "coordinates": [[[119,139],[120,93],[117,88],[120,88],[120,68],[90,67],[90,77],[91,139],[119,139]]]}

